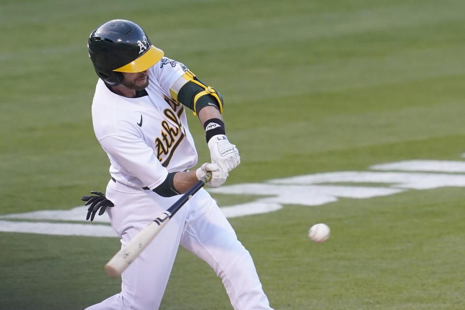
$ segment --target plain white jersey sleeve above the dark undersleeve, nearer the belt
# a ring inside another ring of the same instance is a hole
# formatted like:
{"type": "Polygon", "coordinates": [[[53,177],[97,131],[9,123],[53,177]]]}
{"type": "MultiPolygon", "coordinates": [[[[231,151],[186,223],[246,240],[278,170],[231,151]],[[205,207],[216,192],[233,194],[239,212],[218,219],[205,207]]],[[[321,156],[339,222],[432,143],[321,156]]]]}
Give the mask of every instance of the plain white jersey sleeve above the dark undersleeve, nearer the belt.
{"type": "Polygon", "coordinates": [[[112,165],[125,174],[138,178],[144,186],[154,189],[168,176],[145,141],[134,135],[111,135],[99,140],[112,165]]]}

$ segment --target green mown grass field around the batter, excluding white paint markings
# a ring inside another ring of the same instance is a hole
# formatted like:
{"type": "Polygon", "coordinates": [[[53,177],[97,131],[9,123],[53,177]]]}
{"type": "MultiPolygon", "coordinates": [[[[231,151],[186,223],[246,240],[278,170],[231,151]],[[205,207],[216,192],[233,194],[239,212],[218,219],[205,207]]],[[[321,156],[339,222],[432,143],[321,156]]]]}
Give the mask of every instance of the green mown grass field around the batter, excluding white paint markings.
{"type": "MultiPolygon", "coordinates": [[[[137,22],[223,94],[242,158],[226,185],[463,160],[464,11],[460,0],[0,0],[0,215],[67,210],[105,190],[86,45],[114,18],[137,22]]],[[[208,161],[190,121],[199,163],[208,161]]],[[[441,187],[230,222],[276,310],[460,310],[464,201],[463,188],[441,187]],[[318,222],[332,233],[317,245],[307,231],[318,222]]],[[[0,309],[84,309],[118,293],[102,268],[118,247],[0,233],[0,309]]],[[[180,248],[160,309],[232,307],[213,270],[180,248]]]]}

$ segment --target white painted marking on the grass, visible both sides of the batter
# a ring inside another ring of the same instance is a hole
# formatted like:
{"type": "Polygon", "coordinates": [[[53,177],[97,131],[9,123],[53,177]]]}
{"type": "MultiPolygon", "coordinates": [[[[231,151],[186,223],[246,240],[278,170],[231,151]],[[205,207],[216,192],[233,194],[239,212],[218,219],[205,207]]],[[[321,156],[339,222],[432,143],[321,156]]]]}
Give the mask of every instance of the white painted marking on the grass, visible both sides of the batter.
{"type": "MultiPolygon", "coordinates": [[[[447,186],[465,187],[465,161],[406,160],[374,165],[368,171],[306,174],[263,183],[221,186],[208,191],[213,195],[257,196],[251,202],[221,208],[226,217],[241,217],[277,211],[286,204],[318,206],[337,202],[338,198],[369,199],[408,190],[447,186]]],[[[0,216],[0,231],[116,237],[116,233],[108,225],[106,213],[94,219],[94,222],[102,224],[86,222],[86,213],[87,207],[79,206],[71,210],[3,215],[0,216]],[[22,219],[28,221],[21,221],[22,219]]]]}

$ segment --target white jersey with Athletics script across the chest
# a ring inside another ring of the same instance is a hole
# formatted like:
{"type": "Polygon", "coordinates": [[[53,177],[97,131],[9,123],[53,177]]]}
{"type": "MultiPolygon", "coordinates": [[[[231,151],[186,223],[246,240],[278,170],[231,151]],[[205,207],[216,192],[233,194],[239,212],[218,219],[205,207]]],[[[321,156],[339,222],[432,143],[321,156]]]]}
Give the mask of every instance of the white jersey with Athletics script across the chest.
{"type": "Polygon", "coordinates": [[[197,163],[185,109],[170,93],[187,82],[182,78],[186,70],[182,63],[162,58],[148,70],[148,95],[139,98],[113,93],[99,79],[92,104],[93,128],[116,181],[154,189],[168,172],[197,163]]]}

